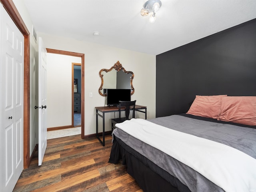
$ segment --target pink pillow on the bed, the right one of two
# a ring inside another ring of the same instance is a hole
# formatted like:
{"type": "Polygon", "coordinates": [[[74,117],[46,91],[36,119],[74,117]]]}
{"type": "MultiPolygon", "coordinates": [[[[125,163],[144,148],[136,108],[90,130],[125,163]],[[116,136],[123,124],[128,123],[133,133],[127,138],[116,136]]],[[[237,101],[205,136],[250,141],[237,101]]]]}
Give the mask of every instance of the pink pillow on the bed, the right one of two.
{"type": "Polygon", "coordinates": [[[223,97],[218,120],[256,126],[256,96],[223,97]]]}

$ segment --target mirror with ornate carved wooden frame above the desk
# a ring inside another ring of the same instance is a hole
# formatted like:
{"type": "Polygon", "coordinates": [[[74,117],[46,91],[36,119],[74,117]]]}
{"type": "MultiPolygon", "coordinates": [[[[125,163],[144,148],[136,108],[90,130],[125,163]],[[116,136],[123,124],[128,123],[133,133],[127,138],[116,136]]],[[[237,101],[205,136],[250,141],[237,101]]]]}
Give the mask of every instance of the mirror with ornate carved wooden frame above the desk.
{"type": "Polygon", "coordinates": [[[132,85],[134,74],[132,71],[126,71],[119,61],[110,69],[100,70],[99,74],[101,78],[100,95],[107,96],[106,89],[131,89],[131,95],[134,94],[132,85]]]}

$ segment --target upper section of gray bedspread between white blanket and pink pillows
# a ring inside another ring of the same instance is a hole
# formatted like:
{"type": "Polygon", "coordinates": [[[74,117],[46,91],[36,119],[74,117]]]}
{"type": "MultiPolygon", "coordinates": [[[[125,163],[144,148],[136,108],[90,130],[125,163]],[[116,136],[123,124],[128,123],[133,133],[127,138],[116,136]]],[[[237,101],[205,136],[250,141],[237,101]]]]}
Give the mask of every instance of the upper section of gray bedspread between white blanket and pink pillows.
{"type": "Polygon", "coordinates": [[[180,115],[160,117],[148,121],[180,132],[226,144],[256,159],[256,129],[202,121],[180,115]]]}

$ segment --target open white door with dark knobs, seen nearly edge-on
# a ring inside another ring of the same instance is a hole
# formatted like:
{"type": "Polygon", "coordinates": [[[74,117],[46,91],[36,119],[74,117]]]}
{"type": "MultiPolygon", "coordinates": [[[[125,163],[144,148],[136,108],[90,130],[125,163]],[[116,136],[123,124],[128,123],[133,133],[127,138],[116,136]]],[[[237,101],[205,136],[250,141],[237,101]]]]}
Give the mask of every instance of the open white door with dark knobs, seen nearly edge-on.
{"type": "Polygon", "coordinates": [[[46,127],[46,48],[38,38],[38,165],[42,165],[47,146],[46,127]]]}

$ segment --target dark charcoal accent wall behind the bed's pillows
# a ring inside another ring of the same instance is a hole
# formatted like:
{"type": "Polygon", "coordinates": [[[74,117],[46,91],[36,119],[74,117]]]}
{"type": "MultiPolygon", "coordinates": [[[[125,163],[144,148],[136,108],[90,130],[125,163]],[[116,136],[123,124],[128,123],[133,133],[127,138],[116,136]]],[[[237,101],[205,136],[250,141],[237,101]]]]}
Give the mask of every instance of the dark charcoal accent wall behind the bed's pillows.
{"type": "Polygon", "coordinates": [[[156,117],[216,94],[256,96],[256,19],[156,56],[156,117]]]}

